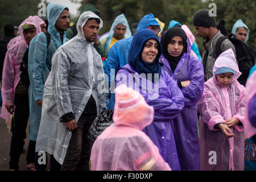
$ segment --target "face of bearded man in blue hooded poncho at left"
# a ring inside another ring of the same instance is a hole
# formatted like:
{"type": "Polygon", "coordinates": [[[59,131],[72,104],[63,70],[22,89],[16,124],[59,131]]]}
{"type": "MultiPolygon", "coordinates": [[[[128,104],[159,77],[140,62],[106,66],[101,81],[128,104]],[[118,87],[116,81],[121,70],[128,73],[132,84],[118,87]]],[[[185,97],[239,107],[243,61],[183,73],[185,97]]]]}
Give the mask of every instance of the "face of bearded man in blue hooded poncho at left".
{"type": "Polygon", "coordinates": [[[68,10],[63,10],[55,23],[55,28],[58,32],[63,32],[69,26],[69,13],[68,10]]]}

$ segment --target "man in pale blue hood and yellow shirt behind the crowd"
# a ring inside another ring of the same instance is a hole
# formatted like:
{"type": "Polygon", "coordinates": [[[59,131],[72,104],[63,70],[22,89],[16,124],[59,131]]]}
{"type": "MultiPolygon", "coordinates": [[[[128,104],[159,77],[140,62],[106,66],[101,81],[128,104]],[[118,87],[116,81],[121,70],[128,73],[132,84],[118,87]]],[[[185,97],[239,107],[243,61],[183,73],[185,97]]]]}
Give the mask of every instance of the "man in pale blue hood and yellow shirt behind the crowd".
{"type": "Polygon", "coordinates": [[[109,49],[115,42],[130,38],[130,36],[131,30],[125,15],[118,15],[112,23],[109,34],[106,34],[100,38],[100,43],[104,47],[105,56],[108,55],[109,49]]]}

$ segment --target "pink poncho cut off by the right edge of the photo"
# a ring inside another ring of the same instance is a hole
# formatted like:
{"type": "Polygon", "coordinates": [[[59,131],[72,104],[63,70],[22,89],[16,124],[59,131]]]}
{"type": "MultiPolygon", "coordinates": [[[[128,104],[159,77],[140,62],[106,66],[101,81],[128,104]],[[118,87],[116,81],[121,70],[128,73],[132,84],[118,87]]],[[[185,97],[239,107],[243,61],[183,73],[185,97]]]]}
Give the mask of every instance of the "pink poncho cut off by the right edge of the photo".
{"type": "Polygon", "coordinates": [[[249,111],[250,111],[250,114],[253,114],[256,112],[254,108],[249,108],[249,102],[253,100],[253,97],[255,97],[255,94],[256,94],[256,71],[247,80],[246,88],[245,88],[245,101],[246,101],[245,133],[247,138],[251,138],[253,137],[253,135],[256,134],[256,127],[251,125],[252,122],[256,123],[256,121],[255,120],[249,121],[249,111]]]}

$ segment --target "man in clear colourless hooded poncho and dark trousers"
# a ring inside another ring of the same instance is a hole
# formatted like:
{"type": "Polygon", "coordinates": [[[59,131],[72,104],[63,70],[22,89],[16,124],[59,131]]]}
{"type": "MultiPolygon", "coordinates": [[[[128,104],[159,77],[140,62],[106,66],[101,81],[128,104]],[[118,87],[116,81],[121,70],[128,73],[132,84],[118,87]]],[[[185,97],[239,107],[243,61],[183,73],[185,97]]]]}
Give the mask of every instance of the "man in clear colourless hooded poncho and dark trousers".
{"type": "Polygon", "coordinates": [[[36,151],[46,151],[61,170],[88,170],[90,125],[105,103],[101,56],[93,47],[102,20],[85,11],[75,38],[57,49],[44,86],[42,119],[36,151]]]}

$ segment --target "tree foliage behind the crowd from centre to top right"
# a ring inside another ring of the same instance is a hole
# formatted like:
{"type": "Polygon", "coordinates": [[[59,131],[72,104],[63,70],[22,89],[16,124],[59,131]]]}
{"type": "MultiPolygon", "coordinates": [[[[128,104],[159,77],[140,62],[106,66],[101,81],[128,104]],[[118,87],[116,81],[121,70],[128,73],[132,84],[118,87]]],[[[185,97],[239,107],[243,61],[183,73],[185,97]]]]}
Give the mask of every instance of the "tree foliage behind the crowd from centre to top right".
{"type": "Polygon", "coordinates": [[[255,0],[82,0],[81,7],[84,7],[87,3],[92,3],[100,10],[101,19],[104,21],[104,27],[101,29],[100,35],[109,31],[113,20],[119,14],[125,14],[131,26],[134,22],[139,22],[144,15],[152,13],[166,24],[164,30],[167,30],[169,22],[173,19],[181,24],[187,24],[196,36],[200,52],[204,40],[196,35],[192,22],[193,15],[200,9],[212,9],[212,7],[209,7],[209,3],[216,3],[216,22],[218,23],[221,19],[224,19],[227,31],[231,32],[233,24],[238,19],[242,19],[250,29],[247,43],[254,49],[256,48],[255,0]]]}

